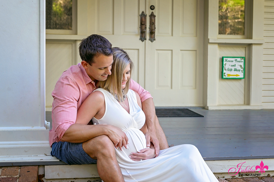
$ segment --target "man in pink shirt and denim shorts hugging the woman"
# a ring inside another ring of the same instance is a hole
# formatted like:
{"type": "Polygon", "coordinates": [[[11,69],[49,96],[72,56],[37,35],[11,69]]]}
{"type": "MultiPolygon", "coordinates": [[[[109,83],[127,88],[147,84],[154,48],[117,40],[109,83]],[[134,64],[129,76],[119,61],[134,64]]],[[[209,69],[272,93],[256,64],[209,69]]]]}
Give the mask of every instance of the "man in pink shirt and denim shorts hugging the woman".
{"type": "MultiPolygon", "coordinates": [[[[49,134],[52,155],[70,165],[97,163],[103,181],[124,181],[114,147],[126,147],[126,134],[112,125],[75,124],[77,110],[96,89],[97,80],[106,80],[111,74],[112,44],[100,35],[90,35],[80,43],[79,53],[81,64],[63,72],[52,92],[52,130],[49,134]]],[[[157,157],[159,150],[168,148],[168,144],[155,115],[152,97],[134,81],[131,81],[130,89],[140,95],[148,127],[147,146],[150,142],[154,144],[157,157]]],[[[133,158],[142,155],[139,153],[133,158]]]]}

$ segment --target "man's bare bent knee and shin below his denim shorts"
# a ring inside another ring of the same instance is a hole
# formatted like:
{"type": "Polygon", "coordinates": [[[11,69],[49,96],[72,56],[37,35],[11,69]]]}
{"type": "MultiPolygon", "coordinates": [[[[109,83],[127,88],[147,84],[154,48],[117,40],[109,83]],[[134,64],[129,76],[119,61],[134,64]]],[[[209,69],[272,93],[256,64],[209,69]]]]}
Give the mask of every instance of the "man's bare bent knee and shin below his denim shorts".
{"type": "Polygon", "coordinates": [[[98,174],[104,182],[124,182],[113,142],[107,135],[92,138],[82,146],[91,158],[97,159],[98,174]]]}

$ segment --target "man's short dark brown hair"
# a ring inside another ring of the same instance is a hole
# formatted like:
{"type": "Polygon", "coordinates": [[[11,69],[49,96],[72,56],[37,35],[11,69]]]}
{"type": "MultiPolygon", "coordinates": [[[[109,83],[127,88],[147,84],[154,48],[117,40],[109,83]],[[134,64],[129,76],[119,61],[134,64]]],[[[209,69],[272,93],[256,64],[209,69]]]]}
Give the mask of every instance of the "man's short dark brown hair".
{"type": "Polygon", "coordinates": [[[83,61],[92,65],[95,56],[98,57],[101,54],[111,56],[113,54],[112,44],[101,35],[89,35],[79,44],[79,53],[83,61]]]}

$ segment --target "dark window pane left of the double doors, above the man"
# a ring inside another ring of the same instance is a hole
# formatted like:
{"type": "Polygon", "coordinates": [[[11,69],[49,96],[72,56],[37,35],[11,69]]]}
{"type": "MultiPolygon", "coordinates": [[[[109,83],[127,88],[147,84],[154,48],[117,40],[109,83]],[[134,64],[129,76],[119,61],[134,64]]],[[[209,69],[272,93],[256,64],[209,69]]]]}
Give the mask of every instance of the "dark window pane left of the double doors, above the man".
{"type": "Polygon", "coordinates": [[[72,0],[46,0],[46,29],[72,30],[72,0]]]}

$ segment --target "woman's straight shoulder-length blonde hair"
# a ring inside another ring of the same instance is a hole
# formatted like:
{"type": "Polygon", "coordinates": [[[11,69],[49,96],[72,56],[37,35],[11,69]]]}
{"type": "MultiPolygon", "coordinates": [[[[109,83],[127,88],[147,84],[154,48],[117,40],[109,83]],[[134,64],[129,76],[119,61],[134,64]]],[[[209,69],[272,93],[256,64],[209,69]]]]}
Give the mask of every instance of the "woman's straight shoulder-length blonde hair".
{"type": "Polygon", "coordinates": [[[127,95],[129,91],[129,85],[131,81],[131,75],[133,73],[133,62],[129,58],[129,55],[126,51],[119,47],[113,47],[113,64],[111,68],[111,75],[108,75],[108,78],[105,81],[98,81],[97,88],[103,88],[108,90],[113,97],[115,97],[115,90],[117,93],[118,101],[121,103],[123,97],[127,95]],[[122,91],[122,79],[123,72],[126,69],[127,65],[130,64],[130,77],[126,83],[126,87],[122,91]]]}

